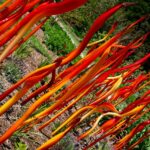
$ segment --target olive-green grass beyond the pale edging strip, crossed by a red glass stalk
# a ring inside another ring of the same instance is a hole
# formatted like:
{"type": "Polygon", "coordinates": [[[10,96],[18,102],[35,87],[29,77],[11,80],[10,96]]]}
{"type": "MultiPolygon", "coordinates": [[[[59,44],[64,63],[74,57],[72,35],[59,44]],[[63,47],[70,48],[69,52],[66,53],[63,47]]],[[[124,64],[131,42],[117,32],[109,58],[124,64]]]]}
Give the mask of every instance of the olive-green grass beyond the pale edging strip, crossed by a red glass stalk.
{"type": "MultiPolygon", "coordinates": [[[[108,8],[114,6],[118,3],[118,0],[89,0],[84,6],[71,11],[69,13],[63,14],[62,18],[67,21],[74,29],[75,33],[79,37],[83,37],[86,31],[90,28],[93,21],[108,8]]],[[[123,10],[119,10],[115,15],[113,15],[106,23],[105,26],[100,29],[100,32],[108,31],[110,25],[117,20],[122,20],[124,18],[123,10]]]]}

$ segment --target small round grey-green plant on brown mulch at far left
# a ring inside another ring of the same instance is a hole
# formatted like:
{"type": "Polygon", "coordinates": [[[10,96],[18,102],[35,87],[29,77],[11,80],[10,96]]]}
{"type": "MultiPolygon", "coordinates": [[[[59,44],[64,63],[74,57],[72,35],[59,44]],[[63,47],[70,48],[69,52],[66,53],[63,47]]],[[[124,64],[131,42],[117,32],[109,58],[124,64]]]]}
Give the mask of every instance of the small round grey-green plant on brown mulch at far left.
{"type": "Polygon", "coordinates": [[[4,72],[7,80],[11,83],[16,83],[22,76],[20,68],[11,61],[5,64],[4,72]]]}

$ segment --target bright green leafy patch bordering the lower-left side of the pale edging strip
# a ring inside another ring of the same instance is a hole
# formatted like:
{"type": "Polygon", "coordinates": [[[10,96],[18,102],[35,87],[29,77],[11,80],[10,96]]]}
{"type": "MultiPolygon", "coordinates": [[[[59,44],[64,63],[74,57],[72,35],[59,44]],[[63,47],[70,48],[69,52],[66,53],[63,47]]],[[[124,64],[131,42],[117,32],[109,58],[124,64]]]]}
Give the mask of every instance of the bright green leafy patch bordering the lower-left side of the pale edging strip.
{"type": "Polygon", "coordinates": [[[74,49],[66,33],[53,20],[48,20],[43,26],[45,33],[45,44],[48,49],[58,55],[65,55],[74,49]]]}

